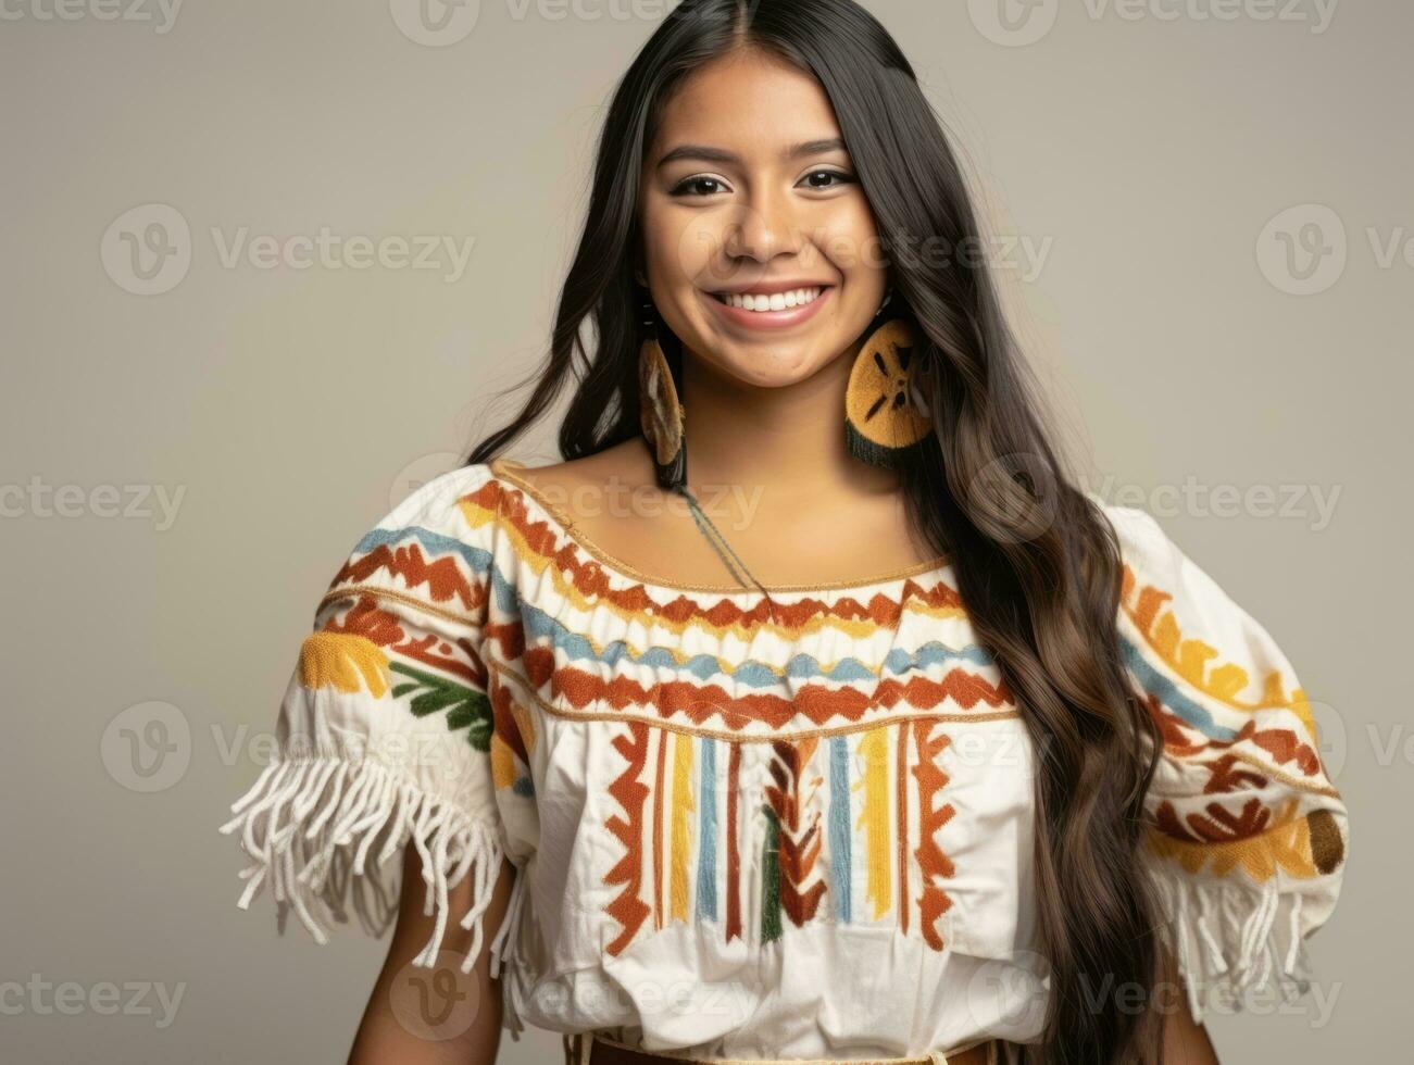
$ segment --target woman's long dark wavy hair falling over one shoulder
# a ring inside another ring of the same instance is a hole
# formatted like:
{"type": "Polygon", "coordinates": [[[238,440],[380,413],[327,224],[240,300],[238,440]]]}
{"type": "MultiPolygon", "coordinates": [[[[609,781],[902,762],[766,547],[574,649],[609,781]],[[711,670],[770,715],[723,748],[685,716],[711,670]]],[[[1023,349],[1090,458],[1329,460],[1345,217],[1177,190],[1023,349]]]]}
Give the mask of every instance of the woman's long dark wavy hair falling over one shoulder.
{"type": "Polygon", "coordinates": [[[1017,699],[1036,760],[1035,898],[1051,987],[1042,1044],[1027,1047],[1024,1059],[1161,1059],[1152,1010],[1096,1004],[1104,989],[1151,991],[1158,977],[1155,901],[1138,847],[1159,741],[1117,649],[1118,545],[1049,443],[987,264],[969,255],[899,255],[922,239],[977,249],[981,233],[937,116],[868,11],[853,0],[684,0],[667,16],[609,105],[549,356],[522,382],[534,388],[519,414],[467,461],[498,455],[571,380],[559,433],[564,458],[641,433],[633,263],[643,153],[683,76],[747,45],[824,86],[889,259],[895,301],[926,337],[913,366],[936,431],[902,467],[911,520],[954,560],[969,617],[1017,699]]]}

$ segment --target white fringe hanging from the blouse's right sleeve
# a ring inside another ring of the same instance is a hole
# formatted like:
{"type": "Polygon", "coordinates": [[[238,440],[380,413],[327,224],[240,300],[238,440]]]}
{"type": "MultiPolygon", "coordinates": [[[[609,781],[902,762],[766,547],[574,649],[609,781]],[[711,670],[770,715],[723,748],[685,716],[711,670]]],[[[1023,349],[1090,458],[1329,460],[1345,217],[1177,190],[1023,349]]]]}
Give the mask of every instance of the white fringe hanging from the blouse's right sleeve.
{"type": "Polygon", "coordinates": [[[1298,891],[1280,891],[1275,877],[1249,887],[1200,881],[1157,863],[1151,871],[1164,907],[1159,938],[1174,952],[1195,1021],[1215,994],[1240,1010],[1249,991],[1274,987],[1290,1004],[1311,989],[1298,891]]]}

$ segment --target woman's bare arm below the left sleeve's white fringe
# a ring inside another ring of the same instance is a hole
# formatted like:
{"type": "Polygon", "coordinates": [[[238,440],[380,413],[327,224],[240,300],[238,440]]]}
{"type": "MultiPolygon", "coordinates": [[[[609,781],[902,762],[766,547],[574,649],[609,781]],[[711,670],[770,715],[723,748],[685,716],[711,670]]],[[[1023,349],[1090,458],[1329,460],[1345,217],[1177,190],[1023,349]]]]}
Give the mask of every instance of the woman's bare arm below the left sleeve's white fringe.
{"type": "Polygon", "coordinates": [[[363,1010],[348,1065],[492,1065],[501,1045],[501,980],[491,977],[491,941],[506,914],[516,868],[502,859],[482,915],[485,936],[469,973],[460,963],[471,946],[461,916],[471,907],[472,877],[451,888],[447,931],[434,969],[410,962],[426,946],[436,916],[423,914],[426,884],[411,843],[403,851],[403,887],[387,959],[363,1010]]]}

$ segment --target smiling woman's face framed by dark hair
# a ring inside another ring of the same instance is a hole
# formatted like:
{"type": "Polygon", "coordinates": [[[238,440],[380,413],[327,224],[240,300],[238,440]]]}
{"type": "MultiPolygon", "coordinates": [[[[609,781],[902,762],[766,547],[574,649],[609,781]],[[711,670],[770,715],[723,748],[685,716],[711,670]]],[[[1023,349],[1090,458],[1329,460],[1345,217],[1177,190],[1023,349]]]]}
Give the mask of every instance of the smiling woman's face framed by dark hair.
{"type": "Polygon", "coordinates": [[[874,215],[814,78],[755,50],[690,75],[643,163],[648,284],[667,327],[742,382],[790,385],[868,327],[874,215]]]}

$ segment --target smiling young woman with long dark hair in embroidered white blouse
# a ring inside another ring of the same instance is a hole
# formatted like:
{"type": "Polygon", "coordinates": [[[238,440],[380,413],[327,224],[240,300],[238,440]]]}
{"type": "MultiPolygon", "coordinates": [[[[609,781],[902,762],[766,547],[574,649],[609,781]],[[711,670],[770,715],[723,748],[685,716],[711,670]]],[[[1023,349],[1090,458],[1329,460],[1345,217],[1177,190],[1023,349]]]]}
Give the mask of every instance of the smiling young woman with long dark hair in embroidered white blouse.
{"type": "Polygon", "coordinates": [[[223,826],[242,907],[396,914],[354,1059],[1200,1062],[1305,989],[1311,709],[1062,470],[980,246],[861,7],[653,34],[533,395],[355,546],[223,826]]]}

